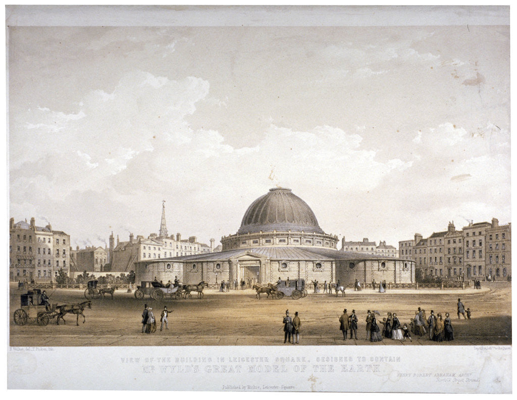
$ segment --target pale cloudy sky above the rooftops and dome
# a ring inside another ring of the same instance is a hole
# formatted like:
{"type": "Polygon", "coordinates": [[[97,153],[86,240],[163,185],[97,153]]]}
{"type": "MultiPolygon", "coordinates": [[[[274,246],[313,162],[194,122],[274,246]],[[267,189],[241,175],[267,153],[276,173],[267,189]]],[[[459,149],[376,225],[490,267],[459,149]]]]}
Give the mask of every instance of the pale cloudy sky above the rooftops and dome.
{"type": "MultiPolygon", "coordinates": [[[[16,24],[13,24],[16,25],[16,24]]],[[[510,30],[10,26],[9,215],[72,246],[203,243],[288,187],[321,228],[398,247],[511,221],[510,30]]]]}

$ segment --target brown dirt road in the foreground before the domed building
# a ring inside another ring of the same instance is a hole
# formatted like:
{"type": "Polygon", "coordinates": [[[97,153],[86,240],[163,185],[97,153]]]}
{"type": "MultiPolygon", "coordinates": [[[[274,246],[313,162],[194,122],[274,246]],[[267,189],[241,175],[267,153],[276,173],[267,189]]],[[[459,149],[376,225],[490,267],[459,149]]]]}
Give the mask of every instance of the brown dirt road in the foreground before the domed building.
{"type": "MultiPolygon", "coordinates": [[[[191,299],[157,302],[146,296],[137,300],[133,293],[117,290],[114,299],[93,300],[86,308],[79,326],[75,316],[67,315],[66,324],[55,322],[46,327],[36,323],[19,326],[13,323],[13,314],[20,308],[20,294],[10,290],[10,345],[11,346],[181,346],[181,345],[283,345],[282,318],[285,310],[299,313],[301,319],[300,345],[511,345],[511,284],[483,283],[481,290],[391,290],[377,293],[371,289],[347,291],[345,297],[335,294],[313,294],[292,300],[256,299],[255,291],[231,290],[220,293],[205,289],[203,299],[192,294],[191,299]],[[457,301],[472,310],[472,319],[458,320],[457,301]],[[142,334],[141,314],[144,303],[153,308],[158,330],[142,334]],[[159,330],[163,305],[172,310],[169,330],[159,330]],[[367,310],[378,310],[382,320],[388,312],[396,312],[401,323],[409,325],[417,307],[429,316],[450,313],[454,328],[453,342],[435,343],[429,336],[414,337],[413,342],[384,339],[366,341],[367,310]],[[358,340],[343,340],[339,331],[339,316],[347,308],[356,310],[359,318],[358,340]]],[[[84,290],[47,290],[51,303],[80,303],[85,301],[84,290]]]]}

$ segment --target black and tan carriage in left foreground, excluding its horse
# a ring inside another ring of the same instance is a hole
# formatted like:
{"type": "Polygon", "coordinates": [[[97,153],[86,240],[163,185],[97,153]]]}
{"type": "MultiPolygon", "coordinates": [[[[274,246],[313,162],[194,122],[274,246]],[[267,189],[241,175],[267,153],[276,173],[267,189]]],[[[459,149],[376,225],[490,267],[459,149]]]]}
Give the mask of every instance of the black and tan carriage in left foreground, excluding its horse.
{"type": "Polygon", "coordinates": [[[14,312],[13,319],[17,325],[37,323],[44,327],[51,319],[56,320],[58,315],[56,304],[49,305],[41,290],[33,289],[20,296],[20,308],[14,312]]]}

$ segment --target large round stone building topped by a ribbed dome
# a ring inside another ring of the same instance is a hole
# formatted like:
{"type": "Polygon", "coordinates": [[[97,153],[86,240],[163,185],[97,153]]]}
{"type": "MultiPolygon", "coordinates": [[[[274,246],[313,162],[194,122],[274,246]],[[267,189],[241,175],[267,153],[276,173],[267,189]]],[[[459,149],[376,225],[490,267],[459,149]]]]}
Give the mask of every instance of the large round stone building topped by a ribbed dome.
{"type": "Polygon", "coordinates": [[[135,282],[177,276],[184,283],[202,280],[273,283],[305,279],[353,285],[386,280],[414,283],[415,262],[337,249],[338,238],[327,234],[309,205],[291,189],[272,188],[251,203],[237,233],[221,238],[222,251],[135,263],[135,282]]]}

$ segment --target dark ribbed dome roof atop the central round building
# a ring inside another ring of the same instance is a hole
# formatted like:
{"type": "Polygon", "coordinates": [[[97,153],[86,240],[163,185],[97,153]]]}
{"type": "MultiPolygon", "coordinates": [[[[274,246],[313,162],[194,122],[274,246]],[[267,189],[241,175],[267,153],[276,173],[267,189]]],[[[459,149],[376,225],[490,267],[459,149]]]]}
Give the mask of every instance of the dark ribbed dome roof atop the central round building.
{"type": "Polygon", "coordinates": [[[291,189],[272,188],[246,210],[238,234],[288,231],[324,233],[305,201],[291,189]]]}

